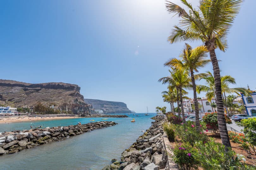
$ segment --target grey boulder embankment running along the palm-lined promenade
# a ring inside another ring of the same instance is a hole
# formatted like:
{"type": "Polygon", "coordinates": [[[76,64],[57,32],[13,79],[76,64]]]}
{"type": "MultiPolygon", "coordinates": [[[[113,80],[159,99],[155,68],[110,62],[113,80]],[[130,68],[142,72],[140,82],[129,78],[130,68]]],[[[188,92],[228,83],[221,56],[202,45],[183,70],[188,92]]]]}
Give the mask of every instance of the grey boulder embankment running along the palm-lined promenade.
{"type": "Polygon", "coordinates": [[[166,121],[164,116],[152,117],[151,127],[140,136],[135,143],[126,149],[121,156],[121,161],[112,160],[102,170],[159,170],[167,166],[168,156],[164,149],[163,127],[166,121]]]}

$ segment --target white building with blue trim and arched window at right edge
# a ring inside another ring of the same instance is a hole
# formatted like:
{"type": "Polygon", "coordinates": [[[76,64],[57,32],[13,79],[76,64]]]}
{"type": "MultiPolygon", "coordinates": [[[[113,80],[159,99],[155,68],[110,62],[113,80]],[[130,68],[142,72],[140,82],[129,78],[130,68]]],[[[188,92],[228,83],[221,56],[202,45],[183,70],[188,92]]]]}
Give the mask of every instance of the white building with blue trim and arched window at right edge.
{"type": "Polygon", "coordinates": [[[251,97],[246,97],[243,94],[241,95],[247,114],[250,116],[256,116],[256,92],[251,93],[251,97]]]}

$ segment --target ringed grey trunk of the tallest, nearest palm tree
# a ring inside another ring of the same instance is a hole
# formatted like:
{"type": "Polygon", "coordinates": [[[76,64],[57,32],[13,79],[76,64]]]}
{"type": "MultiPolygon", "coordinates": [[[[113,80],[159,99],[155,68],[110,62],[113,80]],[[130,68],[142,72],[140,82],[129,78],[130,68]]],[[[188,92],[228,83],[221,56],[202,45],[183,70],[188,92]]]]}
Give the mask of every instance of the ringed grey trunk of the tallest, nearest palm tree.
{"type": "Polygon", "coordinates": [[[220,68],[218,64],[218,60],[215,54],[215,49],[210,49],[210,59],[213,66],[213,75],[214,75],[214,84],[216,89],[216,104],[217,104],[217,118],[218,118],[218,126],[220,130],[220,136],[222,144],[225,145],[226,151],[231,148],[231,144],[229,141],[229,134],[227,130],[225,115],[224,115],[224,106],[222,100],[222,90],[221,90],[221,76],[220,76],[220,68]]]}

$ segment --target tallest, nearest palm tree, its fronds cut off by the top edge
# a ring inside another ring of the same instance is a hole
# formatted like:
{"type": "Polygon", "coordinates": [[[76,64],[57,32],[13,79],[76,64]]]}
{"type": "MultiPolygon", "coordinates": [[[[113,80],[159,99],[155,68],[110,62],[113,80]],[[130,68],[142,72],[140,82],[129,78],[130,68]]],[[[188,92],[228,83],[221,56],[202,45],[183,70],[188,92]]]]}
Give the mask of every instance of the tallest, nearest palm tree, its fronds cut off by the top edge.
{"type": "Polygon", "coordinates": [[[228,130],[225,122],[222,101],[221,78],[215,49],[227,49],[227,33],[232,26],[235,16],[239,13],[243,0],[200,0],[199,9],[194,9],[186,0],[181,0],[189,9],[187,13],[180,6],[167,1],[169,13],[182,17],[181,27],[175,25],[172,34],[168,37],[170,43],[179,41],[201,40],[210,52],[216,89],[217,118],[222,144],[226,150],[231,148],[228,130]]]}

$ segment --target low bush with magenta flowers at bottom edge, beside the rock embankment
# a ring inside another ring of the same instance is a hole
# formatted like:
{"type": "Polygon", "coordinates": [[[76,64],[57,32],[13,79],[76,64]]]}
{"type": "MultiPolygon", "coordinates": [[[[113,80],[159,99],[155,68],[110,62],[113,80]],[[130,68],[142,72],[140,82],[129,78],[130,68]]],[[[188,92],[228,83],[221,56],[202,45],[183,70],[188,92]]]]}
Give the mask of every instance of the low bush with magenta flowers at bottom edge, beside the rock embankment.
{"type": "Polygon", "coordinates": [[[193,148],[189,143],[177,144],[174,148],[171,149],[174,153],[172,158],[174,159],[175,163],[178,164],[179,169],[198,169],[198,161],[196,161],[193,156],[193,154],[196,152],[196,149],[193,148]]]}

